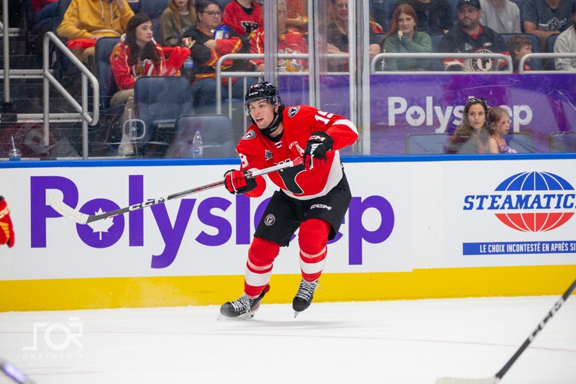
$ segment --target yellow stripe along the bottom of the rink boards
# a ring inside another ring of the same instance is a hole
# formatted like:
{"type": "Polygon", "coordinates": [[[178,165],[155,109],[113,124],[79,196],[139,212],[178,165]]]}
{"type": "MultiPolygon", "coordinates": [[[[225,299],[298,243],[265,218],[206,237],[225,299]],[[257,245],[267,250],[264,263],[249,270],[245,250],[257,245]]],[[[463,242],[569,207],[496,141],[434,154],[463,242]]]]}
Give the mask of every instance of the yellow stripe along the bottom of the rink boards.
{"type": "MultiPolygon", "coordinates": [[[[576,265],[325,273],[314,302],[560,295],[575,278],[576,265]]],[[[272,274],[264,302],[291,302],[300,279],[272,274]]],[[[243,276],[3,280],[0,311],[221,305],[243,289],[243,276]]]]}

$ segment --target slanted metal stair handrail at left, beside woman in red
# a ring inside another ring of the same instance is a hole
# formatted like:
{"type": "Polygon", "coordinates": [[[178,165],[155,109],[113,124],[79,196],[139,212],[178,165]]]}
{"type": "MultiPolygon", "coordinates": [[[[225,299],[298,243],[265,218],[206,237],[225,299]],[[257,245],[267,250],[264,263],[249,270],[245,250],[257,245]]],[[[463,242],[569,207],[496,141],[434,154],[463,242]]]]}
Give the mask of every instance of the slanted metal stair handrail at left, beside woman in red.
{"type": "Polygon", "coordinates": [[[50,145],[50,85],[54,86],[56,90],[72,105],[72,107],[80,114],[82,119],[82,159],[88,159],[88,125],[95,126],[98,124],[98,117],[100,116],[100,85],[98,79],[94,76],[88,68],[66,47],[59,37],[52,32],[47,32],[44,35],[43,41],[43,131],[44,131],[44,146],[50,145]],[[49,70],[49,56],[50,56],[50,42],[57,47],[62,53],[70,59],[81,71],[82,75],[82,105],[78,104],[74,97],[58,82],[58,80],[50,73],[49,70]],[[94,109],[92,115],[88,112],[88,79],[92,82],[92,108],[94,109]]]}

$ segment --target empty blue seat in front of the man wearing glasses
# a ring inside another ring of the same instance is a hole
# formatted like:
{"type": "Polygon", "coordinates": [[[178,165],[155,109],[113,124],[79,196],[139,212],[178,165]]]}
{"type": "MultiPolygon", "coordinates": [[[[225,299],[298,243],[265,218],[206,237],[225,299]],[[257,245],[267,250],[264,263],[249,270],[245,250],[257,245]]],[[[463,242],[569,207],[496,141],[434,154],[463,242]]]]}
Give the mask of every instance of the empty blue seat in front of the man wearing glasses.
{"type": "Polygon", "coordinates": [[[134,104],[138,119],[146,124],[142,142],[154,139],[154,135],[161,132],[170,136],[180,116],[194,113],[190,81],[181,76],[138,78],[134,85],[134,104]]]}

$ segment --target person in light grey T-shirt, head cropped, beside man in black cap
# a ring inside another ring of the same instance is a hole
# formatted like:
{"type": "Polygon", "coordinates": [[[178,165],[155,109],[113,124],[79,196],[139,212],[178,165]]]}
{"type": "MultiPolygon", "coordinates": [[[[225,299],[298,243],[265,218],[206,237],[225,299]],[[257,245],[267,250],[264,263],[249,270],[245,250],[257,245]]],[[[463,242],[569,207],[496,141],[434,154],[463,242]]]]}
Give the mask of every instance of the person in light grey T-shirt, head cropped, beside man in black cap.
{"type": "Polygon", "coordinates": [[[522,33],[520,8],[510,0],[480,0],[480,24],[498,33],[522,33]]]}

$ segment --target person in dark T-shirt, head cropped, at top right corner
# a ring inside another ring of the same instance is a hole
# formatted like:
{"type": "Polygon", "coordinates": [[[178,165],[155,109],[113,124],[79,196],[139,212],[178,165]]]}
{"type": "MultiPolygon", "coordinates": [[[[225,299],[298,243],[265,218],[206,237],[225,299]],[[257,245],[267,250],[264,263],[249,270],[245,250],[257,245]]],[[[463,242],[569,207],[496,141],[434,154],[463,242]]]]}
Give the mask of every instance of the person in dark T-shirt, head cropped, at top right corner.
{"type": "Polygon", "coordinates": [[[546,51],[550,35],[566,31],[572,25],[573,0],[526,0],[520,14],[525,33],[540,37],[541,52],[546,51]]]}

